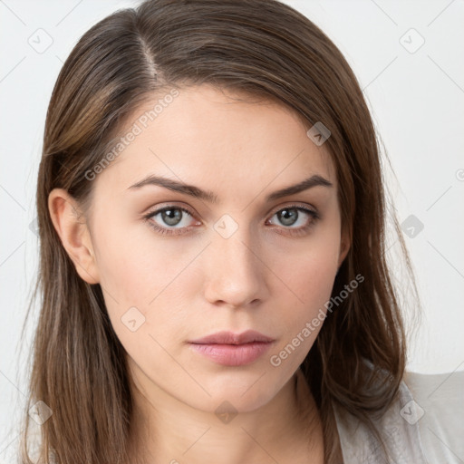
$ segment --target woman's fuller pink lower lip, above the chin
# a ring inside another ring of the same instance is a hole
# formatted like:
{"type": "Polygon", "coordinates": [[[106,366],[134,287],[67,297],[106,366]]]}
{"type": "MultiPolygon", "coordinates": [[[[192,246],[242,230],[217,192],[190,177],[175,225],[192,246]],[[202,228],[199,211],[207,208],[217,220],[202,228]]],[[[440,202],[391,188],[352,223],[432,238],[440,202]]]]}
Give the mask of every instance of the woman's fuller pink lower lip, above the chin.
{"type": "Polygon", "coordinates": [[[255,362],[270,348],[272,342],[254,342],[243,344],[199,344],[190,343],[197,353],[203,354],[218,364],[225,366],[243,366],[255,362]]]}

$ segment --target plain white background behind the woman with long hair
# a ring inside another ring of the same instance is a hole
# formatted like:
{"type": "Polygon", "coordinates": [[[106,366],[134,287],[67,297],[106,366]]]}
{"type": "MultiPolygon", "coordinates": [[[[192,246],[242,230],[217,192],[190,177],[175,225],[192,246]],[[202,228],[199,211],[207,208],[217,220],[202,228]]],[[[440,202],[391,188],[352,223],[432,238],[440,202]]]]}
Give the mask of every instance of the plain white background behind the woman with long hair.
{"type": "MultiPolygon", "coordinates": [[[[413,332],[408,370],[464,370],[464,2],[287,0],[341,49],[371,108],[391,169],[385,175],[410,249],[423,314],[414,323],[398,242],[389,259],[413,332]],[[394,172],[394,175],[393,175],[394,172]],[[396,177],[395,177],[396,176],[396,177]]],[[[37,268],[31,223],[43,125],[53,84],[79,37],[129,0],[0,0],[0,462],[25,399],[20,330],[37,268]],[[39,31],[38,31],[39,30],[39,31]],[[46,50],[37,50],[37,36],[46,50]],[[35,48],[34,48],[35,47],[35,48]]],[[[29,331],[27,343],[31,341],[29,331]]]]}

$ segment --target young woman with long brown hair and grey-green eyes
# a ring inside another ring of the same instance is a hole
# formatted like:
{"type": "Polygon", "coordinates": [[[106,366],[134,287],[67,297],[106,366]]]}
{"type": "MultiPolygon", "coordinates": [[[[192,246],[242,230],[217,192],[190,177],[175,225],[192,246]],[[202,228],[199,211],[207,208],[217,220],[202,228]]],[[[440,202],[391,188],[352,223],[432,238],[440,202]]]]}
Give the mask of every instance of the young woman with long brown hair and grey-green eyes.
{"type": "Polygon", "coordinates": [[[371,116],[302,14],[147,0],[93,26],[37,208],[39,462],[426,462],[371,116]]]}

